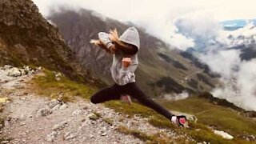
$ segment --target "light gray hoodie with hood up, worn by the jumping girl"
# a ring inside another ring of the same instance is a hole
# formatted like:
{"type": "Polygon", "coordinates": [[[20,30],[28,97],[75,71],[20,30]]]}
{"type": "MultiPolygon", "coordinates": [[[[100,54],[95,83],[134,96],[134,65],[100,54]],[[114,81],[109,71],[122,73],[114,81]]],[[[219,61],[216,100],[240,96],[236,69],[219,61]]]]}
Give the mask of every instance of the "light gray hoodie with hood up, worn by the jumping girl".
{"type": "MultiPolygon", "coordinates": [[[[110,41],[109,34],[100,32],[98,33],[98,38],[104,42],[107,48],[110,48],[113,43],[110,41]]],[[[119,38],[122,42],[129,43],[131,45],[137,46],[138,50],[140,47],[138,30],[135,27],[130,27],[127,29],[119,38]]],[[[128,67],[122,66],[122,58],[124,54],[122,51],[118,50],[113,54],[113,62],[110,67],[111,75],[114,82],[120,86],[126,85],[130,82],[135,82],[134,71],[138,66],[138,52],[130,57],[131,65],[128,67]]]]}

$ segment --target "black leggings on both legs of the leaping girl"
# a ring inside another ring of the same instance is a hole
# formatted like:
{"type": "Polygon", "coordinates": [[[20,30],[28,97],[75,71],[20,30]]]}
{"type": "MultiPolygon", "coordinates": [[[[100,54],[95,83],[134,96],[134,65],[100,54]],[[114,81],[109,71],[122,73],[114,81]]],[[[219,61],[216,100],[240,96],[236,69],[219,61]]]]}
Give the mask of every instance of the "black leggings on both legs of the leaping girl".
{"type": "Polygon", "coordinates": [[[124,86],[114,84],[114,86],[102,89],[90,98],[90,102],[96,104],[114,99],[120,99],[120,96],[122,94],[128,94],[131,97],[138,99],[138,101],[141,102],[143,105],[150,107],[151,109],[157,111],[159,114],[162,114],[168,119],[170,119],[173,115],[170,113],[169,110],[166,110],[164,107],[154,102],[151,98],[147,97],[146,94],[144,94],[142,90],[138,88],[135,82],[128,83],[124,86]]]}

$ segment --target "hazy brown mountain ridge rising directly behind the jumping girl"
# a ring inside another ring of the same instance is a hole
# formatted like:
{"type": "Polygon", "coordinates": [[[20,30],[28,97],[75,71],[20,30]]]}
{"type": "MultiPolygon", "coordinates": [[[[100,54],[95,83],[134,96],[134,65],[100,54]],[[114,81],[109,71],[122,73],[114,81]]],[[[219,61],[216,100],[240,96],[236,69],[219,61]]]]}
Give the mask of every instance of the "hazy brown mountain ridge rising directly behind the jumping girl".
{"type": "MultiPolygon", "coordinates": [[[[109,70],[112,56],[89,42],[91,38],[98,38],[99,31],[117,28],[119,34],[122,34],[129,25],[90,10],[59,11],[61,12],[50,15],[49,19],[58,26],[75,58],[83,68],[89,69],[102,81],[113,83],[109,70]]],[[[214,87],[217,78],[196,58],[146,34],[142,29],[139,29],[139,34],[141,49],[136,76],[143,90],[153,96],[159,96],[181,93],[183,90],[196,93],[214,87]]]]}

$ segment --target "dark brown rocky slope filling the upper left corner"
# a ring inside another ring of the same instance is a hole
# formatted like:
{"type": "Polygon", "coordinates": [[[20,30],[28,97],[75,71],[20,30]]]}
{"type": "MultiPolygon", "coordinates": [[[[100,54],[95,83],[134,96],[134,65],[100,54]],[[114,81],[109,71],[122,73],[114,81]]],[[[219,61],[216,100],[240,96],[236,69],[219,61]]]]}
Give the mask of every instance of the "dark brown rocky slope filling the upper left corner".
{"type": "Polygon", "coordinates": [[[72,51],[31,0],[1,0],[0,27],[0,66],[44,66],[78,79],[72,51]]]}

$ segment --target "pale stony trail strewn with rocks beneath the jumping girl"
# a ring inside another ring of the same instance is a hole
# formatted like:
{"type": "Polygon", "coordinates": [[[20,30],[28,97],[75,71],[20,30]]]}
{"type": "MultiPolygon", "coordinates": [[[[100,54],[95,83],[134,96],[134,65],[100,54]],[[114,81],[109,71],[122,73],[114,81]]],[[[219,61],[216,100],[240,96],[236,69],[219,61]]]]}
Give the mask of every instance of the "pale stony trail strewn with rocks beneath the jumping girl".
{"type": "Polygon", "coordinates": [[[8,98],[1,103],[5,119],[1,143],[144,143],[120,133],[120,126],[146,134],[164,132],[174,139],[181,137],[174,131],[151,126],[146,118],[128,118],[82,98],[64,103],[30,94],[26,83],[42,72],[17,70],[5,66],[0,71],[0,98],[8,98]]]}

